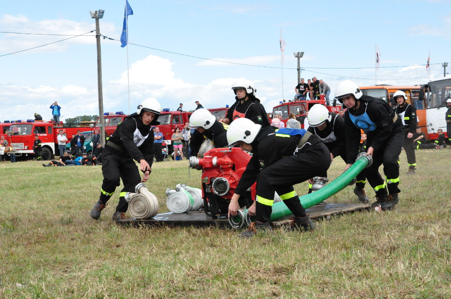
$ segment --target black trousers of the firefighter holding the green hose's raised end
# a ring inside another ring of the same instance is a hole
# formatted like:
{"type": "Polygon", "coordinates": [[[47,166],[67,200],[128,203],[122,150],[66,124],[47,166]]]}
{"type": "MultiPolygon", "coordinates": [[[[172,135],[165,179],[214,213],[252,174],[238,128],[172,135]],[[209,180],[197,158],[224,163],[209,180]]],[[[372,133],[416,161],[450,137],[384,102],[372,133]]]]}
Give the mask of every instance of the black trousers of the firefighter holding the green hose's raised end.
{"type": "Polygon", "coordinates": [[[388,137],[386,143],[373,151],[373,164],[365,168],[361,173],[366,176],[369,184],[376,192],[376,197],[386,197],[387,194],[400,192],[398,156],[401,153],[404,131],[394,132],[388,137]],[[379,166],[384,165],[383,179],[379,173],[379,166]],[[387,192],[388,188],[388,192],[387,192]]]}

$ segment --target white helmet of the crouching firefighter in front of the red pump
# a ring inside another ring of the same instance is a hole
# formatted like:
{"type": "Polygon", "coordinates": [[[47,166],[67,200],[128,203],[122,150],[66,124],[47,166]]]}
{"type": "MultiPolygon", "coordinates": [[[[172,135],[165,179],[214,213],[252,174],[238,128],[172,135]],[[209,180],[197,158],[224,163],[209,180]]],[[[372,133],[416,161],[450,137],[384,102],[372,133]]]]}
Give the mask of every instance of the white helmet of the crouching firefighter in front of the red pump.
{"type": "Polygon", "coordinates": [[[227,141],[229,146],[234,146],[237,142],[252,143],[262,128],[261,124],[254,123],[249,118],[237,118],[227,130],[227,141]]]}

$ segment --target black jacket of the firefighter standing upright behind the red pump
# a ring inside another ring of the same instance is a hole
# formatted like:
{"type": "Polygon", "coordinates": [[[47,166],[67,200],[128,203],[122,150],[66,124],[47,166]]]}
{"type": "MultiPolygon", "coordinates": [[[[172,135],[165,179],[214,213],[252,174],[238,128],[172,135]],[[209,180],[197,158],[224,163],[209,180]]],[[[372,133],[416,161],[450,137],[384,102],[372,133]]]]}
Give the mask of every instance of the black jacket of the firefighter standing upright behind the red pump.
{"type": "Polygon", "coordinates": [[[248,95],[248,100],[241,103],[238,96],[235,97],[236,101],[227,110],[226,118],[229,118],[230,122],[234,120],[235,109],[240,113],[246,113],[245,117],[254,121],[254,123],[261,124],[263,127],[270,126],[268,116],[266,115],[265,107],[260,103],[260,99],[253,95],[248,95]]]}

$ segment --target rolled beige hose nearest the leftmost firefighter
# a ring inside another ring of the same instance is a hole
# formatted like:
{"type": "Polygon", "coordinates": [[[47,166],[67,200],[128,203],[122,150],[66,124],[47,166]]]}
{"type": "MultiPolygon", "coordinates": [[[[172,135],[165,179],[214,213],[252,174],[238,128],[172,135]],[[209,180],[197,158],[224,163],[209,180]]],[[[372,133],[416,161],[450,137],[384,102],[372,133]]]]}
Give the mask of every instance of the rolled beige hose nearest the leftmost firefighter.
{"type": "Polygon", "coordinates": [[[137,193],[127,192],[125,200],[128,202],[128,210],[133,218],[148,219],[158,213],[158,199],[146,188],[144,183],[135,187],[137,193]]]}

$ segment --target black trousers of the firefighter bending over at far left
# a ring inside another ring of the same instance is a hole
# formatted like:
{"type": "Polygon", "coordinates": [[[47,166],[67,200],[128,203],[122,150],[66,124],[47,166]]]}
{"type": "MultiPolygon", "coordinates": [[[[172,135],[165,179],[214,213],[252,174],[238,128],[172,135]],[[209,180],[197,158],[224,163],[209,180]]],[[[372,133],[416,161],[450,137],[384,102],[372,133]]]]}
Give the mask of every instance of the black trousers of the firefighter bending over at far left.
{"type": "MultiPolygon", "coordinates": [[[[152,166],[152,164],[149,166],[152,166]]],[[[141,182],[141,175],[135,161],[128,154],[119,153],[115,149],[105,146],[102,152],[102,174],[103,182],[99,199],[105,204],[113,195],[116,187],[120,185],[122,179],[124,187],[119,194],[116,211],[126,212],[128,202],[125,201],[125,193],[134,193],[135,186],[141,182]]]]}

